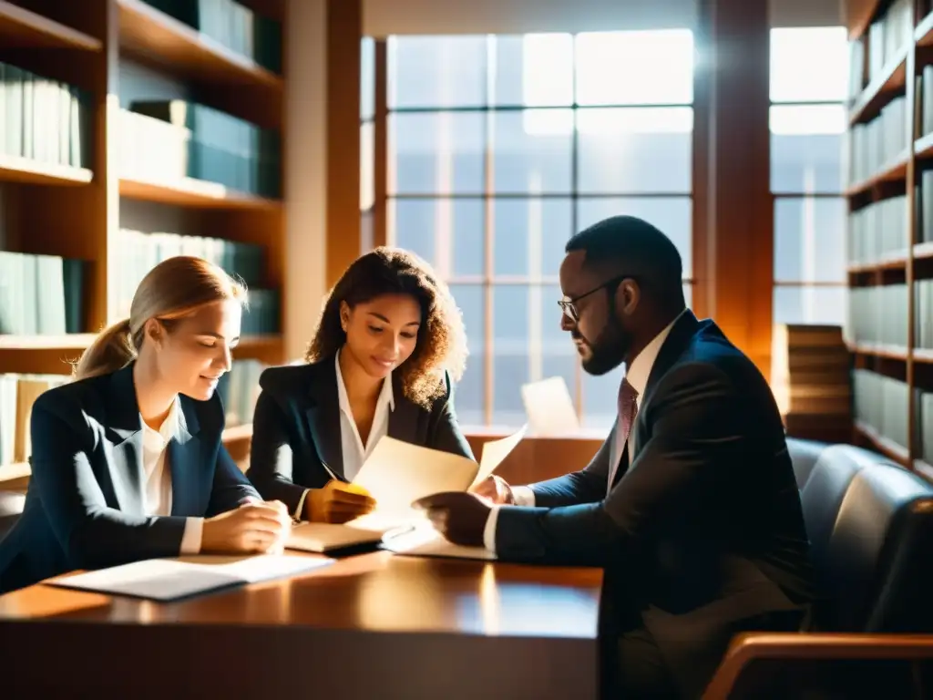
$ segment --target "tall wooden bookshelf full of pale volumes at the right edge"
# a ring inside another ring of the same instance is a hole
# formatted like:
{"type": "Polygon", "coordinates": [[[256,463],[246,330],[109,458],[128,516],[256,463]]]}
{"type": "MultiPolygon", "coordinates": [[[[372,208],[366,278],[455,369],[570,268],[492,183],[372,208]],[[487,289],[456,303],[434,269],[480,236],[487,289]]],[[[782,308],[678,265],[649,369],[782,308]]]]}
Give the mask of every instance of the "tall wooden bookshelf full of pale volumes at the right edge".
{"type": "Polygon", "coordinates": [[[847,9],[856,443],[933,479],[933,5],[847,9]]]}

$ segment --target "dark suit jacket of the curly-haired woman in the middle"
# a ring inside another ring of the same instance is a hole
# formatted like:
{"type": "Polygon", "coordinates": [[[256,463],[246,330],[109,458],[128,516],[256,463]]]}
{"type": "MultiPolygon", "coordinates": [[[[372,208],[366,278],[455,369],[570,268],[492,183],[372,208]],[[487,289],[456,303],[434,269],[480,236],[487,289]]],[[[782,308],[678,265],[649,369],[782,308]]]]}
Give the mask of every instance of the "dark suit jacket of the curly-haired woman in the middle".
{"type": "MultiPolygon", "coordinates": [[[[388,435],[396,440],[473,458],[453,411],[450,379],[431,410],[412,403],[393,375],[395,410],[388,435]]],[[[259,377],[262,392],[253,415],[253,444],[246,476],[267,499],[290,513],[306,488],[322,488],[330,472],[343,479],[341,413],[334,358],[310,365],[273,367],[259,377]]]]}

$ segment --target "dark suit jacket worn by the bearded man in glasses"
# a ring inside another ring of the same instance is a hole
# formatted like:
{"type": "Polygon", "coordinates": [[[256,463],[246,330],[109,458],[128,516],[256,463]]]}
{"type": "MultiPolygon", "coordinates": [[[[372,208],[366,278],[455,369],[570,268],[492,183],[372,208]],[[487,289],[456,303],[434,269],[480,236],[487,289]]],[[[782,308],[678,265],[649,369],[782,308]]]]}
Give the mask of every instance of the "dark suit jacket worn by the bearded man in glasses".
{"type": "Polygon", "coordinates": [[[644,625],[697,697],[751,618],[794,616],[812,592],[809,542],[771,390],[712,321],[682,316],[661,347],[606,485],[614,431],[583,470],[532,485],[498,515],[500,559],[606,567],[620,632],[644,625]]]}

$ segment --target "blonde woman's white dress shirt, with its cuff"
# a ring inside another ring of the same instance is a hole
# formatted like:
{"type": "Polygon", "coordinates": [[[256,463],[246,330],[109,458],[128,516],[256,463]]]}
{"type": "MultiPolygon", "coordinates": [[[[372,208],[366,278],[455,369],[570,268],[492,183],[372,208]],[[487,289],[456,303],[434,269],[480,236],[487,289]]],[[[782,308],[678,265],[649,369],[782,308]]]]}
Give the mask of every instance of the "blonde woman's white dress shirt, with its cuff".
{"type": "MultiPolygon", "coordinates": [[[[146,515],[172,514],[172,470],[168,469],[167,465],[168,446],[169,441],[177,434],[180,410],[176,398],[158,430],[148,427],[142,414],[139,416],[143,425],[143,475],[146,479],[143,502],[146,515]]],[[[203,527],[203,518],[187,518],[180,553],[201,552],[203,527]]]]}

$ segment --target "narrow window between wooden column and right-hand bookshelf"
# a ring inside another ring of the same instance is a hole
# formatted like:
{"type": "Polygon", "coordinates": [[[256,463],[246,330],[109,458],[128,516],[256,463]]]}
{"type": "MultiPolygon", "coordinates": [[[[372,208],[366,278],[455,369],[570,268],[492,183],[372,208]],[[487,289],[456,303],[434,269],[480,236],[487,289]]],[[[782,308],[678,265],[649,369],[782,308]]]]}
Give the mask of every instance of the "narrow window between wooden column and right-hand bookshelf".
{"type": "Polygon", "coordinates": [[[842,325],[846,316],[843,27],[771,32],[774,323],[842,325]]]}

